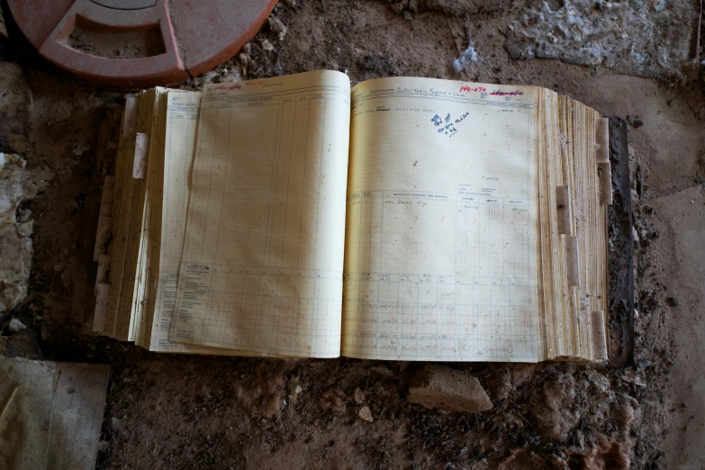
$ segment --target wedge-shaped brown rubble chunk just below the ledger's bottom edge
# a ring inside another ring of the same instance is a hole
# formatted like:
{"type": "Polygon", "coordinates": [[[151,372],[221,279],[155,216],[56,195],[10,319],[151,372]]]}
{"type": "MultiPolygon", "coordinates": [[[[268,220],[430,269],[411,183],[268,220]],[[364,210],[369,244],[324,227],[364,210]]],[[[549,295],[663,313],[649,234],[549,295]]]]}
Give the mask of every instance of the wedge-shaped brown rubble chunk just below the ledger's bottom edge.
{"type": "Polygon", "coordinates": [[[476,412],[493,407],[477,377],[433,364],[416,373],[407,401],[444,411],[476,412]]]}

